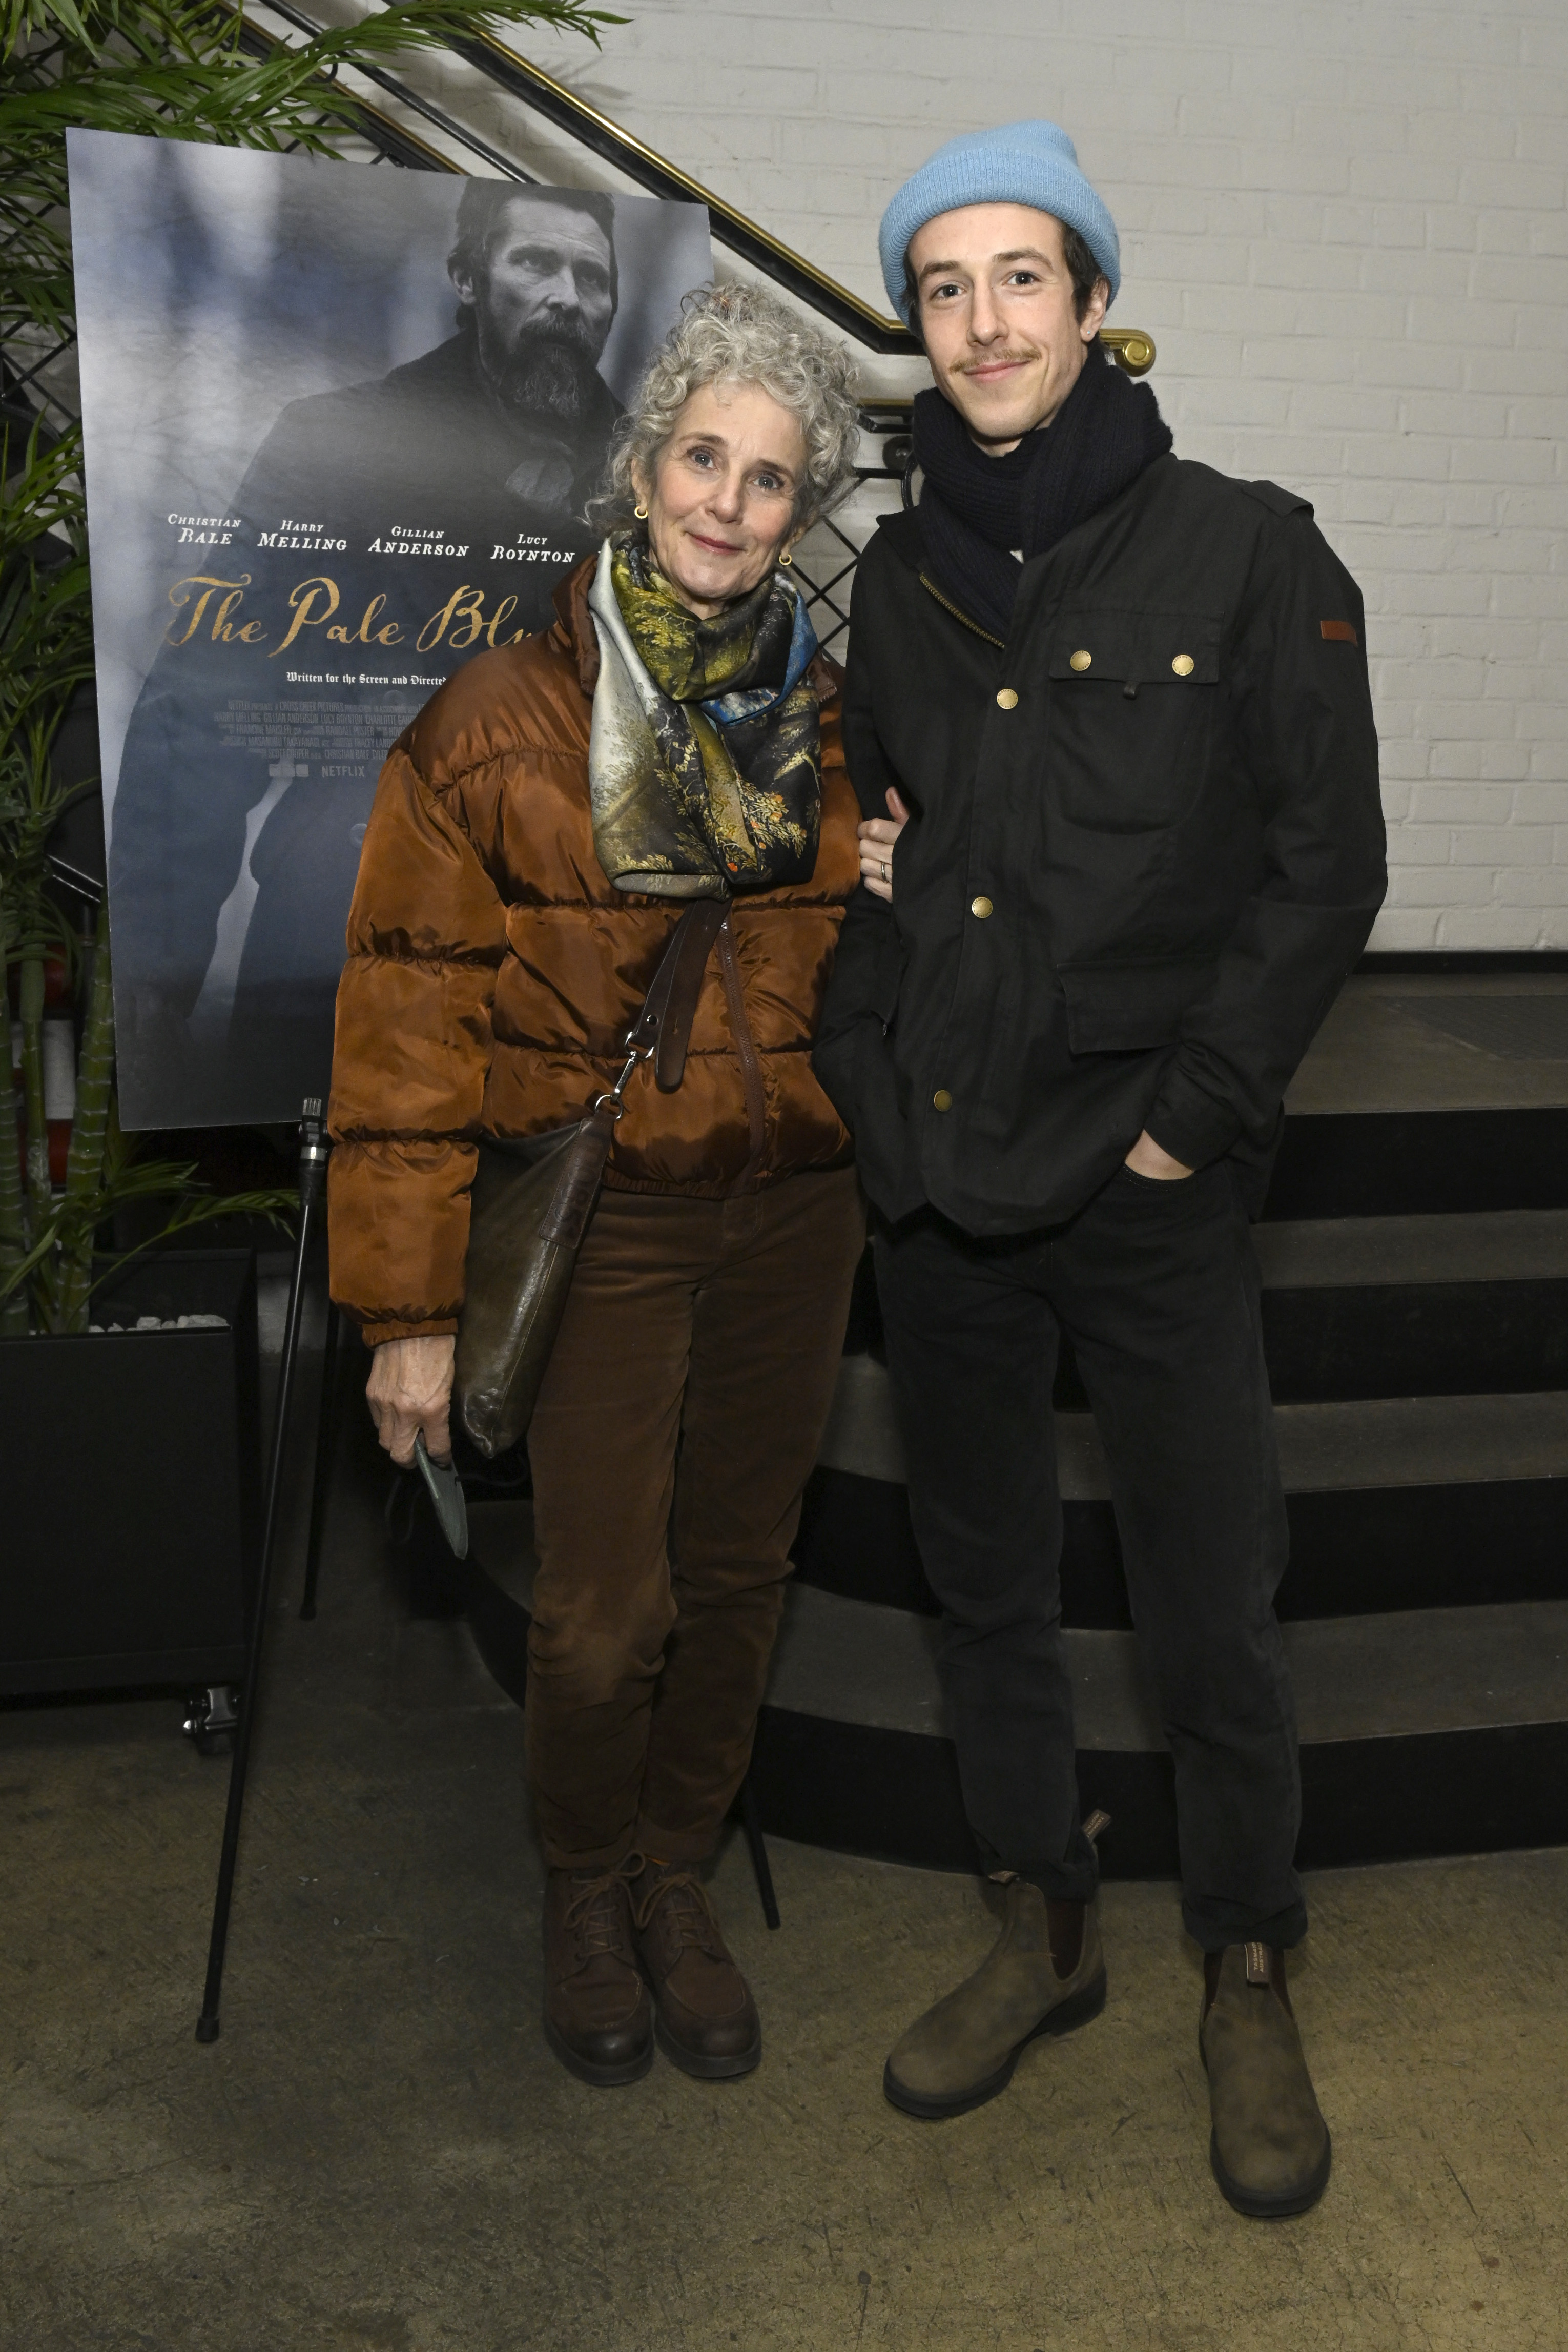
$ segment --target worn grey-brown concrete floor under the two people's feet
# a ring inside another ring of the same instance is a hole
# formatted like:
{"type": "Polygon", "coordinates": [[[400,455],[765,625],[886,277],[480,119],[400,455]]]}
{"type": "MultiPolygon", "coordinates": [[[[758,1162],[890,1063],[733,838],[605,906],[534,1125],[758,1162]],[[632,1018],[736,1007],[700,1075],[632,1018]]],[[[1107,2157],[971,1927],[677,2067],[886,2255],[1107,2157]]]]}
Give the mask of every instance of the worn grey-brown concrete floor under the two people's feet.
{"type": "Polygon", "coordinates": [[[759,2072],[588,2091],[536,2025],[520,1717],[407,1623],[376,1522],[350,1477],[322,1618],[275,1618],[214,2049],[223,1766],[169,1700],[0,1715],[7,2352],[1568,2343],[1568,1853],[1312,1884],[1335,2176],[1295,2223],[1211,2183],[1168,1886],[1105,1893],[1105,2018],[929,2126],[882,2058],[983,1952],[980,1891],[776,1844],[769,1936],[731,1844],[759,2072]]]}

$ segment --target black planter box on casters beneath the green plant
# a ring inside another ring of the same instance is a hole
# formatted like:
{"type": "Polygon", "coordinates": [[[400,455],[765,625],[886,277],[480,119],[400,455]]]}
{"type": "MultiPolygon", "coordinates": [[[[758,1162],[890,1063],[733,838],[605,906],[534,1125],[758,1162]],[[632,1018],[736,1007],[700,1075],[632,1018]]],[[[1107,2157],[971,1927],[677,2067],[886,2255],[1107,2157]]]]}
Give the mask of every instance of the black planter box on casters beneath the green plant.
{"type": "Polygon", "coordinates": [[[256,1258],[141,1258],[99,1324],[0,1341],[0,1693],[237,1682],[259,1552],[256,1258]]]}

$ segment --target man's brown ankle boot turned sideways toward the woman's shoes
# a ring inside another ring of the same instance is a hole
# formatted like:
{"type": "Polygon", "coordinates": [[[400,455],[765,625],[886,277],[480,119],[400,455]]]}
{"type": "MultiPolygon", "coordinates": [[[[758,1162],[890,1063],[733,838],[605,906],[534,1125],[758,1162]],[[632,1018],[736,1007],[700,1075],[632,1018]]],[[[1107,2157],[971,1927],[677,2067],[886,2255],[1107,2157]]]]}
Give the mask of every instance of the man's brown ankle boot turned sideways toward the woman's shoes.
{"type": "Polygon", "coordinates": [[[882,2089],[905,2114],[964,2114],[1006,2091],[1030,2042],[1072,2032],[1103,2009],[1093,1903],[1046,1903],[1039,1886],[1013,1879],[997,1945],[957,1992],[914,2020],[882,2089]]]}

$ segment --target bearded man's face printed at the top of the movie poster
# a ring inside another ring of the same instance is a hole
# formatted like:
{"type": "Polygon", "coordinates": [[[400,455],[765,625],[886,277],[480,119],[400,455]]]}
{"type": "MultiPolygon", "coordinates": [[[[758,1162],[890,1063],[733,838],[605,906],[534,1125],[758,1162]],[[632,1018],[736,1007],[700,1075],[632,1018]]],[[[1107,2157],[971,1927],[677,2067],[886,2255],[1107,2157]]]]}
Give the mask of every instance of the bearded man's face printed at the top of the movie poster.
{"type": "Polygon", "coordinates": [[[609,238],[585,212],[515,198],[484,266],[456,278],[475,313],[480,367],[508,407],[574,426],[614,318],[609,238]]]}

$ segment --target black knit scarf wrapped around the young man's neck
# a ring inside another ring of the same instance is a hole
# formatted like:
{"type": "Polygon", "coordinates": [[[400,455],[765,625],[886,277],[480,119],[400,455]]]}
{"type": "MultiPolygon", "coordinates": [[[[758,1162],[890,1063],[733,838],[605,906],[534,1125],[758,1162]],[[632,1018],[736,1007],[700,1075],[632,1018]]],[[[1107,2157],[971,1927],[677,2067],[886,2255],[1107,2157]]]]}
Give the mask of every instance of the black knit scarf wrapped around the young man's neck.
{"type": "Polygon", "coordinates": [[[914,400],[919,529],[943,595],[994,637],[1013,626],[1020,564],[1119,499],[1171,447],[1147,383],[1088,353],[1060,409],[1006,456],[985,456],[938,393],[914,400]]]}

